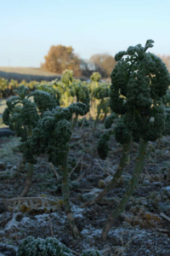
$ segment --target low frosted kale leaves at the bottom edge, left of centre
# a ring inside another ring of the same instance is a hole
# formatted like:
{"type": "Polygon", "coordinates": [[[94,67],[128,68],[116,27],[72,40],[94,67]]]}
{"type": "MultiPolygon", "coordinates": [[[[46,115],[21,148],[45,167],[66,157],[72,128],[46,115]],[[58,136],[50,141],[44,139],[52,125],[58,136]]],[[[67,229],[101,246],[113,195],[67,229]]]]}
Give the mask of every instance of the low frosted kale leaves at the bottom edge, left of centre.
{"type": "Polygon", "coordinates": [[[19,246],[17,256],[73,256],[71,250],[56,238],[28,236],[19,246]]]}

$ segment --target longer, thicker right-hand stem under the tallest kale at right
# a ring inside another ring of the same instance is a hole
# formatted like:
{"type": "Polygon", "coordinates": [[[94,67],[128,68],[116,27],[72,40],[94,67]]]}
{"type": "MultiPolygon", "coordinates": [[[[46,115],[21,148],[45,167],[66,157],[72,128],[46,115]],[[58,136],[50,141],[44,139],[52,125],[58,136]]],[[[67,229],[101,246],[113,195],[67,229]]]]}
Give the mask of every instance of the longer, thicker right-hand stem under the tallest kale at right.
{"type": "Polygon", "coordinates": [[[116,218],[118,218],[120,216],[121,212],[124,211],[124,209],[127,205],[127,201],[129,200],[131,195],[133,195],[134,189],[137,186],[138,181],[139,181],[139,176],[143,170],[147,145],[148,145],[147,141],[140,139],[139,152],[138,152],[136,166],[135,166],[134,172],[133,172],[133,177],[131,178],[130,182],[127,185],[127,191],[126,191],[125,195],[123,195],[122,201],[116,207],[116,210],[114,212],[112,212],[111,215],[109,216],[109,218],[107,219],[107,222],[105,224],[105,227],[104,227],[104,229],[102,231],[102,235],[101,235],[102,240],[106,240],[107,235],[108,235],[109,231],[111,230],[111,226],[112,226],[113,222],[116,221],[116,218]]]}

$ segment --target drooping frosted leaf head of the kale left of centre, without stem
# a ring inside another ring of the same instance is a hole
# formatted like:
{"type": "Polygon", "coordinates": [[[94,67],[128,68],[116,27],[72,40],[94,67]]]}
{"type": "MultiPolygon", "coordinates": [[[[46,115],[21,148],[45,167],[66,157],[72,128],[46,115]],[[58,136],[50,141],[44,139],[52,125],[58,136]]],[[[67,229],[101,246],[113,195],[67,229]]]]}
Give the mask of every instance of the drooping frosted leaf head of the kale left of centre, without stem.
{"type": "Polygon", "coordinates": [[[55,166],[62,164],[71,138],[71,118],[73,113],[85,114],[86,105],[80,102],[68,108],[59,106],[52,111],[43,113],[37,127],[32,131],[31,138],[24,143],[24,156],[33,163],[34,154],[48,154],[48,160],[55,166]]]}

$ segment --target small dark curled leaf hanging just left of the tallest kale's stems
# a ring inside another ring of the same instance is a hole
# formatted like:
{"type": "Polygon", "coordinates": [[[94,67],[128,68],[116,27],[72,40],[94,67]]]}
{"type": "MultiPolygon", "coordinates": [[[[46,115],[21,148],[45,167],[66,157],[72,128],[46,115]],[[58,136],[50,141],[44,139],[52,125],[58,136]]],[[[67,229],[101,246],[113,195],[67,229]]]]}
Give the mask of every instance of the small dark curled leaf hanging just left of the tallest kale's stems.
{"type": "Polygon", "coordinates": [[[103,160],[106,159],[108,153],[109,153],[109,146],[108,141],[111,138],[111,135],[113,134],[113,131],[105,131],[100,137],[99,137],[99,143],[98,143],[98,154],[99,157],[103,160]]]}

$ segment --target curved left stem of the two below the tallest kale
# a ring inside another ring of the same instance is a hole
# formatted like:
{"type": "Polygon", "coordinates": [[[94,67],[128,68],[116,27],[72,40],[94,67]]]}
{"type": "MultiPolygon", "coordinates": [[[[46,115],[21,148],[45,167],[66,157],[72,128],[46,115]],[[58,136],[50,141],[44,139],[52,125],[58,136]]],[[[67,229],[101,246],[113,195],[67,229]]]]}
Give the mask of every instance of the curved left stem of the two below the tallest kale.
{"type": "Polygon", "coordinates": [[[127,144],[122,145],[123,148],[123,153],[122,153],[122,157],[119,163],[119,166],[114,174],[114,176],[111,179],[111,182],[105,187],[105,189],[103,189],[103,191],[101,191],[101,193],[99,193],[98,196],[96,196],[93,200],[85,202],[84,204],[82,204],[82,208],[84,207],[89,207],[94,205],[95,203],[98,203],[99,201],[102,200],[102,198],[107,195],[107,193],[109,191],[111,191],[111,189],[114,189],[116,182],[118,180],[118,178],[120,178],[122,176],[122,172],[123,169],[125,168],[125,166],[127,165],[127,161],[128,161],[128,155],[129,155],[129,149],[130,149],[130,142],[127,144]]]}

